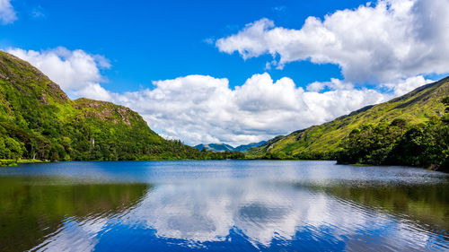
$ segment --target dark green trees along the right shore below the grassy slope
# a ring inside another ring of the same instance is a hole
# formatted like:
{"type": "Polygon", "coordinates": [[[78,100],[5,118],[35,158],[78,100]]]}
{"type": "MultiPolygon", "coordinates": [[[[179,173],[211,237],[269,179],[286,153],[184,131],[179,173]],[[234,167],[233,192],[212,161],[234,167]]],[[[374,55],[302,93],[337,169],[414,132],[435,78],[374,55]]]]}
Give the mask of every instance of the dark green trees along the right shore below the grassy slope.
{"type": "Polygon", "coordinates": [[[409,125],[404,119],[391,124],[354,129],[342,143],[339,163],[413,165],[449,171],[449,96],[442,100],[445,115],[409,125]]]}

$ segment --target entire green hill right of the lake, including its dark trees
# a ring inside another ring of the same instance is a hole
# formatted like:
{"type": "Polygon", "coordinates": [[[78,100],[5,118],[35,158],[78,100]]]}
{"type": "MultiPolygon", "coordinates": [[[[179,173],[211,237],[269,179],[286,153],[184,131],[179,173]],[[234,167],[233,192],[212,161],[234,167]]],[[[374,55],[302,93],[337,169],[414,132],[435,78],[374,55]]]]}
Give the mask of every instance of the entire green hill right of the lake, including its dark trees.
{"type": "Polygon", "coordinates": [[[444,169],[448,96],[449,77],[328,123],[279,135],[246,156],[444,169]]]}

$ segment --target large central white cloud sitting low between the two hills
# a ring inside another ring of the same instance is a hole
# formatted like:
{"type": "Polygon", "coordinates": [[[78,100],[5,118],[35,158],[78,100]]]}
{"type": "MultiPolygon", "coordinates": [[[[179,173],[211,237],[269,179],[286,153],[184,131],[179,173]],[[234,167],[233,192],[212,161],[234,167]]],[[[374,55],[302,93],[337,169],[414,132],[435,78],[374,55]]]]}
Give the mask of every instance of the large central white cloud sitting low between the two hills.
{"type": "Polygon", "coordinates": [[[289,78],[274,82],[269,74],[254,74],[231,89],[227,79],[189,75],[154,82],[153,90],[110,97],[136,109],[165,136],[191,144],[234,145],[320,124],[391,98],[379,91],[356,89],[338,80],[332,82],[341,86],[323,92],[304,91],[289,78]]]}

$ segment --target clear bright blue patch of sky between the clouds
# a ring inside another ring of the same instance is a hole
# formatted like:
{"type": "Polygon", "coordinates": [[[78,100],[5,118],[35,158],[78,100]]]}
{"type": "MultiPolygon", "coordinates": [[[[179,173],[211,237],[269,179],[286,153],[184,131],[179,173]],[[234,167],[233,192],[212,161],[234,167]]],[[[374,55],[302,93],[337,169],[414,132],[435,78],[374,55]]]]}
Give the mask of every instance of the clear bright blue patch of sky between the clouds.
{"type": "MultiPolygon", "coordinates": [[[[298,28],[310,15],[323,17],[365,1],[17,1],[17,21],[0,26],[2,48],[46,49],[64,46],[101,54],[112,67],[102,74],[111,91],[130,91],[154,80],[188,74],[225,77],[241,85],[265,72],[269,56],[242,60],[207,44],[269,18],[298,28]],[[39,12],[36,16],[36,13],[39,12]]],[[[289,76],[298,85],[339,78],[338,65],[297,62],[274,79],[289,76]]]]}

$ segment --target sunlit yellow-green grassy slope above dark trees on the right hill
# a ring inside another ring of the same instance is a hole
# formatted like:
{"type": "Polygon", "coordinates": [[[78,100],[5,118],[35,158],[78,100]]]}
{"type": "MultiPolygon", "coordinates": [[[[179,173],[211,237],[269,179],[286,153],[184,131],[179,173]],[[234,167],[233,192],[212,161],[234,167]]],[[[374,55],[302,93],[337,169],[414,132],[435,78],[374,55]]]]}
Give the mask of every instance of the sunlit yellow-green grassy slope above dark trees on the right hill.
{"type": "Polygon", "coordinates": [[[332,158],[342,141],[361,126],[389,124],[404,119],[409,125],[441,117],[445,106],[441,100],[449,95],[449,78],[430,83],[399,98],[368,106],[320,126],[311,126],[290,135],[279,135],[246,154],[250,158],[332,158]]]}

